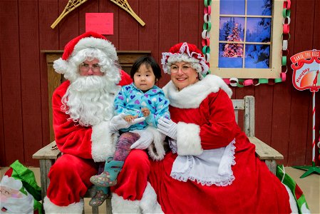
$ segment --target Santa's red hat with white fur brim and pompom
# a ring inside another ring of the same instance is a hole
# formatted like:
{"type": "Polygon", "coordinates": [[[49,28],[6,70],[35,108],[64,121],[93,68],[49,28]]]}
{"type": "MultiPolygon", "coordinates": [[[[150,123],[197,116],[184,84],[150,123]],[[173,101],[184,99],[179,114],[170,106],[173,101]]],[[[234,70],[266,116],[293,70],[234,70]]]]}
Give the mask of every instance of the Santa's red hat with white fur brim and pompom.
{"type": "Polygon", "coordinates": [[[58,58],[56,61],[53,61],[53,68],[56,70],[57,73],[66,73],[68,69],[68,61],[70,58],[75,56],[78,51],[87,48],[97,48],[103,51],[108,58],[112,61],[117,61],[118,56],[117,52],[115,51],[115,46],[105,38],[96,32],[89,31],[76,38],[72,39],[71,41],[66,44],[63,55],[61,58],[58,58]]]}

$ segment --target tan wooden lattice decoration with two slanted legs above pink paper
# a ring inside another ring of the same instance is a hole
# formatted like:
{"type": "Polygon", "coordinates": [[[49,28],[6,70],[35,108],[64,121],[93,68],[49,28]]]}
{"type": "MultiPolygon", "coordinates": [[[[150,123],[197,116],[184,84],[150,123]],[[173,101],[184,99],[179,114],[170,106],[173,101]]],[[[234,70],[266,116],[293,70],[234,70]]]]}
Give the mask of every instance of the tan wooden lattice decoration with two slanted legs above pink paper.
{"type": "MultiPolygon", "coordinates": [[[[67,14],[69,14],[71,11],[73,11],[74,9],[76,9],[78,6],[80,6],[81,4],[85,3],[86,1],[88,1],[88,0],[69,0],[68,4],[63,9],[63,11],[60,14],[60,16],[58,17],[58,19],[56,19],[56,21],[54,21],[53,24],[51,24],[51,29],[54,29],[56,27],[56,25],[61,21],[61,19],[63,19],[67,14]]],[[[142,21],[137,14],[135,14],[133,9],[131,9],[130,5],[128,4],[127,0],[110,0],[110,1],[112,1],[115,4],[117,4],[118,6],[120,6],[125,11],[127,11],[142,26],[145,26],[145,22],[142,21]]]]}

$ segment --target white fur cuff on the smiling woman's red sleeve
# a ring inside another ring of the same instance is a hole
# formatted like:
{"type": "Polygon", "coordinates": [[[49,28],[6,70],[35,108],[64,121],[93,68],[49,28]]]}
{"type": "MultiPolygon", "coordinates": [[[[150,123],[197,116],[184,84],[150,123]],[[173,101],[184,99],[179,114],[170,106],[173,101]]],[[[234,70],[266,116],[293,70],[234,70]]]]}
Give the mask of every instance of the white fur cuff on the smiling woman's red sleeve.
{"type": "Polygon", "coordinates": [[[200,126],[193,123],[177,123],[177,154],[199,156],[202,152],[200,126]]]}

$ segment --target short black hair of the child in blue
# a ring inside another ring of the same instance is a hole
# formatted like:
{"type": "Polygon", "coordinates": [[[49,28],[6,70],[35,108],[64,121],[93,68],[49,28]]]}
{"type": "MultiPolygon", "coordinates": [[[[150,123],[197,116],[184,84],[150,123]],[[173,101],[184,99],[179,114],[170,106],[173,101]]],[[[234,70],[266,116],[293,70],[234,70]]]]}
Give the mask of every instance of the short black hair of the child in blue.
{"type": "Polygon", "coordinates": [[[155,58],[153,58],[152,56],[141,56],[140,58],[138,58],[137,61],[135,61],[135,63],[133,63],[133,66],[131,67],[130,77],[133,79],[133,76],[135,76],[135,73],[143,64],[145,64],[147,68],[149,68],[149,66],[153,68],[153,74],[155,74],[155,81],[159,81],[159,79],[161,78],[161,68],[155,61],[155,58]]]}

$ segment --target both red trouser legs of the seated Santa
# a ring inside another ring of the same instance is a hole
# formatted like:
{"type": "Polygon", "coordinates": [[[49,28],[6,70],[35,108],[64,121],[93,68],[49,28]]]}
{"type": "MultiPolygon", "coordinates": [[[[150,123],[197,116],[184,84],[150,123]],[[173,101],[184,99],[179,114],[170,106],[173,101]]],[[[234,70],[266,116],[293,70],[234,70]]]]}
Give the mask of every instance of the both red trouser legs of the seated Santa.
{"type": "MultiPolygon", "coordinates": [[[[145,151],[133,149],[118,175],[118,184],[111,188],[126,200],[141,200],[147,186],[150,161],[145,151]]],[[[93,160],[64,154],[51,167],[47,196],[58,206],[78,203],[92,185],[90,178],[98,172],[93,160]]]]}

